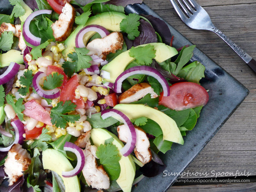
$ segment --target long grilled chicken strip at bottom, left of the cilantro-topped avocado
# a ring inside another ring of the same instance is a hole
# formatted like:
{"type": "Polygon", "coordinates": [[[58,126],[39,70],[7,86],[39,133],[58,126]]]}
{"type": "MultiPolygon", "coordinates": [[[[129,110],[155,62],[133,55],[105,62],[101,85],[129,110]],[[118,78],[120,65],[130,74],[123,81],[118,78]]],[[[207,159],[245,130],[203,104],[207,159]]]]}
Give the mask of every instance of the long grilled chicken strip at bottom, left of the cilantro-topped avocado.
{"type": "Polygon", "coordinates": [[[82,173],[85,177],[85,181],[88,185],[91,185],[92,188],[96,189],[108,189],[110,186],[110,181],[108,174],[105,172],[103,166],[98,166],[98,163],[93,156],[92,150],[94,146],[91,146],[89,138],[91,137],[90,131],[86,132],[87,134],[83,137],[83,140],[86,141],[85,150],[85,166],[82,169],[82,173]]]}

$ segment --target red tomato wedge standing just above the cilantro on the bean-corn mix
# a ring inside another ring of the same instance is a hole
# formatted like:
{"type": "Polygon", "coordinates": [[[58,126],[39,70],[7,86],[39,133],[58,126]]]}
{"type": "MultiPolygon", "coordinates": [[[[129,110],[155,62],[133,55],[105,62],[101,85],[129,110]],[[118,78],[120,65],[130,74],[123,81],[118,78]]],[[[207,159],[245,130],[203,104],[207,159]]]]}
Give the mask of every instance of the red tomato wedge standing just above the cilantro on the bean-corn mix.
{"type": "Polygon", "coordinates": [[[70,100],[72,103],[76,104],[76,109],[81,109],[85,107],[85,103],[82,98],[76,99],[75,98],[75,89],[79,85],[79,80],[77,75],[74,75],[66,85],[63,87],[62,91],[60,92],[59,101],[68,101],[70,100]]]}

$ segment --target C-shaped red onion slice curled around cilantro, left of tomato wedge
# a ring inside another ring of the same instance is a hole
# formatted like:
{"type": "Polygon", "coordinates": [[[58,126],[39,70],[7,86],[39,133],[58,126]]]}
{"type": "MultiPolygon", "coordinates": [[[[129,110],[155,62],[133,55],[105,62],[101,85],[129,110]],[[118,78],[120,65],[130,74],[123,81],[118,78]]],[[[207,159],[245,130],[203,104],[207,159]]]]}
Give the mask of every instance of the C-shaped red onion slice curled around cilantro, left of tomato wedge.
{"type": "Polygon", "coordinates": [[[46,73],[44,72],[37,72],[33,77],[33,87],[36,90],[36,93],[39,94],[43,98],[47,99],[54,99],[58,98],[60,96],[60,92],[58,88],[55,88],[53,90],[44,90],[41,85],[39,85],[39,81],[41,78],[46,77],[46,73]]]}

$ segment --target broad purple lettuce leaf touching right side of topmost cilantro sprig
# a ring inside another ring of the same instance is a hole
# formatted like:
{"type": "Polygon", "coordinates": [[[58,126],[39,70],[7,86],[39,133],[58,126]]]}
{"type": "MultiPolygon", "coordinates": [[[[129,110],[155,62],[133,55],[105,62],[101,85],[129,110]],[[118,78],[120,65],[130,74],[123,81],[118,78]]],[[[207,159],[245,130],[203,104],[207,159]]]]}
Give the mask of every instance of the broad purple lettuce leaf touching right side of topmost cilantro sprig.
{"type": "Polygon", "coordinates": [[[154,28],[145,20],[140,19],[139,31],[140,35],[133,41],[133,46],[139,46],[151,42],[158,42],[157,35],[154,28]]]}

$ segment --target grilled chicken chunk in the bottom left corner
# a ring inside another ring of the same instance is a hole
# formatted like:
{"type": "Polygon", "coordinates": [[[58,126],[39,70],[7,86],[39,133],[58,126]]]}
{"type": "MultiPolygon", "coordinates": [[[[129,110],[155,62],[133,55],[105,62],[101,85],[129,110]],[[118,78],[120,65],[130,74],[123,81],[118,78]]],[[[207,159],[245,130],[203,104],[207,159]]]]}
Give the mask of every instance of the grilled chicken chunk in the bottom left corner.
{"type": "Polygon", "coordinates": [[[9,185],[13,185],[28,169],[31,163],[30,154],[20,144],[14,144],[8,152],[4,163],[4,171],[9,177],[9,185]]]}

